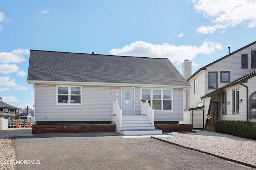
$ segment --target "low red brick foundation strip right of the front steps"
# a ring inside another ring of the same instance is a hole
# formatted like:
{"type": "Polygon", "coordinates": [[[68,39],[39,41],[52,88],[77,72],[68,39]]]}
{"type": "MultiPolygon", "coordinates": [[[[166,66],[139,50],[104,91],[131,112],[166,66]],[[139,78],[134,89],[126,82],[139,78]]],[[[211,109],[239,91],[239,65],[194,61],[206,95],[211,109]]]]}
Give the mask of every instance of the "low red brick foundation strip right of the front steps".
{"type": "Polygon", "coordinates": [[[155,124],[156,129],[163,132],[168,131],[192,131],[193,125],[181,125],[181,124],[155,124]]]}

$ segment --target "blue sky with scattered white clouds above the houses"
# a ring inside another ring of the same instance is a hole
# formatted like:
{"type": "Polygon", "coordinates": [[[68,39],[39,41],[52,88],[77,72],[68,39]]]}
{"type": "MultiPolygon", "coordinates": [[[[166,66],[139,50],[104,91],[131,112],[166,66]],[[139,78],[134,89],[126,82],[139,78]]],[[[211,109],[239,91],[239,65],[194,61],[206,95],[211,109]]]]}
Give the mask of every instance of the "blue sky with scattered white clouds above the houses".
{"type": "Polygon", "coordinates": [[[256,41],[256,0],[1,0],[0,97],[34,109],[30,49],[185,59],[199,68],[256,41]]]}

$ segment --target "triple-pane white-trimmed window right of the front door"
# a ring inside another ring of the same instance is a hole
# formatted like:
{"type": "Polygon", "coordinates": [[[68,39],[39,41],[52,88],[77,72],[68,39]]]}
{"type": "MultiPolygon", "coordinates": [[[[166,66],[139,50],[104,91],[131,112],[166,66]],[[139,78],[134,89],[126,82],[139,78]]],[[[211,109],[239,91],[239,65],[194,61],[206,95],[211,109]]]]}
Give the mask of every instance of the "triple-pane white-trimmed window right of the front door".
{"type": "Polygon", "coordinates": [[[142,89],[142,102],[148,103],[155,110],[172,110],[172,90],[170,89],[142,89]]]}

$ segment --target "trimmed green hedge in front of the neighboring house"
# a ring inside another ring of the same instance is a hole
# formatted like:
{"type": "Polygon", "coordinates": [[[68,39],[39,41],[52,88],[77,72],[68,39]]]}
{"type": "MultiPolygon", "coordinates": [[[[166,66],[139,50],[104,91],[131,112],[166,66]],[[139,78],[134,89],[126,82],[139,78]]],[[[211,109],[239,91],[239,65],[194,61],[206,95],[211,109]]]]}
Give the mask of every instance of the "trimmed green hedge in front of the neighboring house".
{"type": "Polygon", "coordinates": [[[256,122],[220,120],[214,124],[214,130],[216,133],[256,140],[256,122]]]}

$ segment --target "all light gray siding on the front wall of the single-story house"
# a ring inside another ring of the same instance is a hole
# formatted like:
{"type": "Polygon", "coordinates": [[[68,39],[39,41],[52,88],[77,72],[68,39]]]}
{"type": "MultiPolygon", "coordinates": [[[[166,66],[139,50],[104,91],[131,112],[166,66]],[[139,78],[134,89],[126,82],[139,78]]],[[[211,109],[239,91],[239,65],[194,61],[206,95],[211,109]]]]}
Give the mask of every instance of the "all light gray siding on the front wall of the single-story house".
{"type": "MultiPolygon", "coordinates": [[[[112,121],[112,101],[118,99],[119,106],[122,107],[121,96],[121,87],[82,86],[82,106],[57,105],[56,85],[36,84],[35,121],[112,121]],[[115,96],[116,93],[120,96],[115,96]]],[[[136,115],[140,115],[140,101],[140,87],[136,87],[136,115]]],[[[173,111],[155,111],[155,121],[182,120],[183,89],[174,89],[173,111]]]]}

